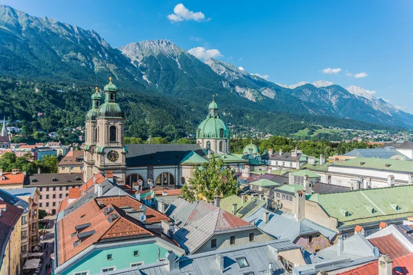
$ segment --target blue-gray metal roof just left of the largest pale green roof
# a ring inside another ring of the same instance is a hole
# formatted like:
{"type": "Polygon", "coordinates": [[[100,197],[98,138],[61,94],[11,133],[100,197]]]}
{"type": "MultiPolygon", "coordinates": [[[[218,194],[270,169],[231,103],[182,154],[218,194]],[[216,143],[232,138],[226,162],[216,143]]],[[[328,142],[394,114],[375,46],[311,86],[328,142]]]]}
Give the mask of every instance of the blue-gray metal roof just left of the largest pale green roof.
{"type": "Polygon", "coordinates": [[[290,241],[295,241],[298,236],[315,233],[320,233],[329,240],[332,240],[337,234],[333,230],[318,225],[309,219],[297,221],[293,214],[283,211],[277,211],[275,213],[265,208],[259,208],[253,214],[244,217],[244,220],[248,221],[248,223],[255,224],[260,230],[277,239],[289,239],[290,241]],[[264,223],[262,220],[264,218],[264,212],[269,212],[269,221],[267,223],[264,223]]]}

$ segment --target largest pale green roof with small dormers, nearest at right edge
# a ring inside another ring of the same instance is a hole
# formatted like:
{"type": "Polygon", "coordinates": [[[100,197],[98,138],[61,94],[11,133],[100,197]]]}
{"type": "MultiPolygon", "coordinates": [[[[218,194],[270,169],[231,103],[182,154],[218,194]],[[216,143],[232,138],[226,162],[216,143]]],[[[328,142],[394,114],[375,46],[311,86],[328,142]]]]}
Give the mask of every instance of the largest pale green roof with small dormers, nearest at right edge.
{"type": "Polygon", "coordinates": [[[338,219],[339,226],[412,216],[412,198],[413,185],[309,196],[310,201],[319,203],[327,214],[338,219]]]}

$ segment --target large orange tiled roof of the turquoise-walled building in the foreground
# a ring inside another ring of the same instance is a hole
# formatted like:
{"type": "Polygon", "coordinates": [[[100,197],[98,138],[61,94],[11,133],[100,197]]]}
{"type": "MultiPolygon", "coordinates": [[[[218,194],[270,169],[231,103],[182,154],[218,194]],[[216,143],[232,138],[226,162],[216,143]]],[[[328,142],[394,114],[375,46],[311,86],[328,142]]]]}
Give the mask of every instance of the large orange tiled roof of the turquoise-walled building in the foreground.
{"type": "Polygon", "coordinates": [[[153,236],[153,233],[142,228],[138,221],[127,217],[125,211],[116,206],[106,206],[105,208],[100,209],[98,203],[92,200],[59,221],[58,256],[60,264],[72,259],[76,254],[101,239],[146,234],[153,236]],[[108,216],[105,215],[105,208],[109,207],[113,209],[109,214],[116,214],[117,216],[112,222],[109,222],[107,220],[108,216]],[[74,243],[79,240],[77,234],[72,235],[76,233],[75,226],[85,223],[90,223],[90,225],[83,229],[82,232],[94,230],[94,233],[81,239],[81,242],[75,246],[74,243]]]}

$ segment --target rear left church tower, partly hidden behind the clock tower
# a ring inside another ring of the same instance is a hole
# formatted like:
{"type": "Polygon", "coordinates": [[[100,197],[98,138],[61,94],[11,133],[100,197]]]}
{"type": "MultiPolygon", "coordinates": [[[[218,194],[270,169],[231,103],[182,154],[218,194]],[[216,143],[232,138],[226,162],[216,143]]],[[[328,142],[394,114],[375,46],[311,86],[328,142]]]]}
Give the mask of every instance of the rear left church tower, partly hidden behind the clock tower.
{"type": "Polygon", "coordinates": [[[92,95],[92,109],[86,113],[85,120],[85,147],[83,154],[83,180],[87,181],[93,177],[93,166],[95,160],[95,148],[97,140],[96,115],[102,102],[102,96],[98,87],[92,95]]]}

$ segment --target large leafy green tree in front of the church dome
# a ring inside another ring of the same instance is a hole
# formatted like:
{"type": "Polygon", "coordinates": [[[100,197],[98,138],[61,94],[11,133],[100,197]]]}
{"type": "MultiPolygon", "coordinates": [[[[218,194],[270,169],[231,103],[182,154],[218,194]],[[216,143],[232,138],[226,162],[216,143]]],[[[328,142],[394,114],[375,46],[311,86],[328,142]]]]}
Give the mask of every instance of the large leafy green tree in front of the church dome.
{"type": "Polygon", "coordinates": [[[215,196],[228,197],[237,195],[238,184],[235,170],[225,166],[224,161],[215,155],[207,164],[195,166],[193,177],[188,181],[189,188],[182,188],[182,197],[189,201],[207,199],[215,196]],[[191,194],[192,193],[192,194],[191,194]]]}

